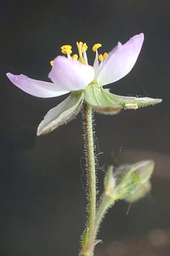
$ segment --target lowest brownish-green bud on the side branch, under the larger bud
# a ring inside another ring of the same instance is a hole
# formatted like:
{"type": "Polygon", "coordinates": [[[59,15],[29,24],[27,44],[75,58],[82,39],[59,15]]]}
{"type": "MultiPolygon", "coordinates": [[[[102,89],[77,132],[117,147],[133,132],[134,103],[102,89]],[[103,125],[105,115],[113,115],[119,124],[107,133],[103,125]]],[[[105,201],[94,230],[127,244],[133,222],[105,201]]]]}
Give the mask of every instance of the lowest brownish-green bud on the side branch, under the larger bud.
{"type": "Polygon", "coordinates": [[[141,185],[141,187],[138,187],[135,189],[135,191],[132,191],[129,193],[128,197],[125,198],[125,201],[133,204],[139,199],[142,199],[147,195],[148,192],[151,191],[151,183],[150,181],[147,181],[145,184],[141,185]]]}

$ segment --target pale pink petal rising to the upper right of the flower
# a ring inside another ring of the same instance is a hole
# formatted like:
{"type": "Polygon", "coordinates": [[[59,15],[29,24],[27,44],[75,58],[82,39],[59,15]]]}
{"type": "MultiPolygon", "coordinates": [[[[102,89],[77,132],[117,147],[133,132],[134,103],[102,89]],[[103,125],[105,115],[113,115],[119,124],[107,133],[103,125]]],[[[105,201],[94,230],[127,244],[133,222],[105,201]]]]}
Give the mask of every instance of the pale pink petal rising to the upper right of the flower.
{"type": "Polygon", "coordinates": [[[100,64],[101,68],[99,65],[100,72],[97,82],[101,85],[111,84],[111,82],[126,76],[137,61],[143,40],[144,35],[141,33],[133,36],[123,45],[118,42],[117,46],[108,53],[109,57],[105,60],[105,63],[100,64]]]}

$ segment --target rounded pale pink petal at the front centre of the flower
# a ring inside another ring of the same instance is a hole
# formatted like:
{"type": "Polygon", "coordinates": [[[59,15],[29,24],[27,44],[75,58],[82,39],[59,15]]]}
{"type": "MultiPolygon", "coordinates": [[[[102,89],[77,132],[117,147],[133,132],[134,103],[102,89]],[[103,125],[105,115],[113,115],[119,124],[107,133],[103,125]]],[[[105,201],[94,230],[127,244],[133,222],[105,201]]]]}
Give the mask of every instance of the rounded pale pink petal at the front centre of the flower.
{"type": "Polygon", "coordinates": [[[54,59],[49,78],[65,90],[80,90],[94,79],[94,68],[79,60],[58,56],[54,59]]]}

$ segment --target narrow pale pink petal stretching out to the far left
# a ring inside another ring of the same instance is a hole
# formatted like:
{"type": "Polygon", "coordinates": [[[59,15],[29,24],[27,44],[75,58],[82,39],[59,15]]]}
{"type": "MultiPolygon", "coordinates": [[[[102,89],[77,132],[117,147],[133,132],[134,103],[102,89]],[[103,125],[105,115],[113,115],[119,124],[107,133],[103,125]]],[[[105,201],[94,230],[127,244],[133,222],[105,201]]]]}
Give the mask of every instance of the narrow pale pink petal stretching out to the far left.
{"type": "Polygon", "coordinates": [[[6,75],[8,79],[18,88],[36,97],[57,97],[69,92],[69,90],[62,89],[61,87],[52,84],[52,82],[31,79],[25,75],[13,75],[11,73],[7,73],[6,75]]]}

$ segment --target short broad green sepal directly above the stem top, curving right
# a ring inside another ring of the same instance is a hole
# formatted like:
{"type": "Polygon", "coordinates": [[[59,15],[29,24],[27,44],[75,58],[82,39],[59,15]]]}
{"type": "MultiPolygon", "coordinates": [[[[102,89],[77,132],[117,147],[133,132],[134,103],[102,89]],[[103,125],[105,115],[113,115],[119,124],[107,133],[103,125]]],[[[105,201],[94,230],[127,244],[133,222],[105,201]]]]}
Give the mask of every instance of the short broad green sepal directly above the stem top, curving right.
{"type": "Polygon", "coordinates": [[[121,106],[99,84],[89,84],[84,89],[84,99],[100,114],[117,114],[121,110],[121,106]]]}

